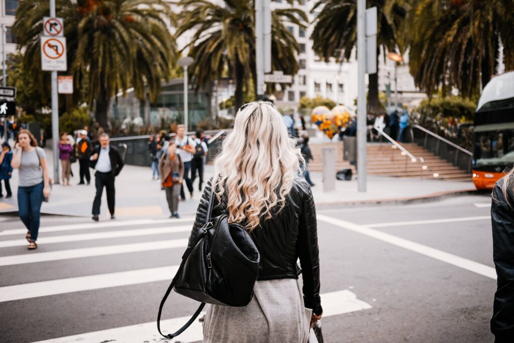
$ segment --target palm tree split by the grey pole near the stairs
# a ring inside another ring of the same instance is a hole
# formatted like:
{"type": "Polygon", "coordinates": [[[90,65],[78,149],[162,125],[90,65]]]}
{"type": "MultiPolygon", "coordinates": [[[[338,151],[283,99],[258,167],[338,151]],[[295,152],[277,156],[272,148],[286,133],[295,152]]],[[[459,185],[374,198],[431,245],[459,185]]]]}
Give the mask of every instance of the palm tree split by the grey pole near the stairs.
{"type": "MultiPolygon", "coordinates": [[[[401,1],[393,1],[385,8],[386,0],[368,0],[368,7],[377,7],[377,59],[380,49],[394,51],[397,46],[397,34],[405,17],[406,10],[401,1]],[[386,11],[387,10],[387,11],[386,11]]],[[[314,20],[313,49],[328,61],[331,57],[338,62],[348,61],[357,44],[357,1],[356,0],[318,0],[312,12],[319,14],[314,20]]],[[[400,51],[403,50],[400,47],[400,51]]],[[[377,63],[378,66],[378,63],[377,63]]],[[[378,70],[377,70],[378,71],[378,70]]],[[[378,72],[369,76],[370,112],[379,111],[378,72]]]]}

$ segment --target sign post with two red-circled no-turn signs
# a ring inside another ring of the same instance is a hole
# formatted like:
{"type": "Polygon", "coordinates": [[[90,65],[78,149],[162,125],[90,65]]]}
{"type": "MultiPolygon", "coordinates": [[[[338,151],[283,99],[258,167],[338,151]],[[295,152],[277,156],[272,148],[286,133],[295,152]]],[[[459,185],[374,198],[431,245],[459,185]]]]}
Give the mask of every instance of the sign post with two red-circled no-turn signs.
{"type": "Polygon", "coordinates": [[[50,17],[43,18],[43,36],[41,37],[41,69],[51,71],[52,88],[52,149],[53,149],[53,183],[59,184],[59,99],[57,71],[68,69],[66,61],[66,38],[64,22],[56,18],[56,0],[50,0],[50,17]]]}

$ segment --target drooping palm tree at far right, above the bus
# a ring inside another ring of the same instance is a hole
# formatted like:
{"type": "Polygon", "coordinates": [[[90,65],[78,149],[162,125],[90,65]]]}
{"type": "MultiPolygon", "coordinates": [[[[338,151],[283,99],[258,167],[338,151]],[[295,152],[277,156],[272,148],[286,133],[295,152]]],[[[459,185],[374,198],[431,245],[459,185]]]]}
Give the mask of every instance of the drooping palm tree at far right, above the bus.
{"type": "Polygon", "coordinates": [[[480,93],[498,65],[499,40],[514,67],[513,0],[417,0],[411,4],[410,69],[427,93],[480,93]]]}

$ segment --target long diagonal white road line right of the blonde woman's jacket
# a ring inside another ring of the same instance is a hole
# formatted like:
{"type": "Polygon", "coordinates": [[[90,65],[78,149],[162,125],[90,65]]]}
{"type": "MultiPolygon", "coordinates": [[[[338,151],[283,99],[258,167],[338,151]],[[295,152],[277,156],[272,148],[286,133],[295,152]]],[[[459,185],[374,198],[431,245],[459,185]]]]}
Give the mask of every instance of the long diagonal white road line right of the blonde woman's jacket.
{"type": "Polygon", "coordinates": [[[399,238],[389,233],[374,230],[365,225],[350,223],[344,220],[332,218],[331,216],[322,214],[317,215],[317,218],[318,220],[323,221],[325,223],[336,225],[354,232],[362,233],[366,236],[373,237],[380,241],[387,242],[417,252],[418,254],[425,255],[436,260],[469,270],[470,272],[480,274],[494,280],[496,279],[496,270],[493,267],[489,267],[478,262],[474,262],[453,254],[449,254],[448,252],[437,250],[426,245],[399,238]]]}

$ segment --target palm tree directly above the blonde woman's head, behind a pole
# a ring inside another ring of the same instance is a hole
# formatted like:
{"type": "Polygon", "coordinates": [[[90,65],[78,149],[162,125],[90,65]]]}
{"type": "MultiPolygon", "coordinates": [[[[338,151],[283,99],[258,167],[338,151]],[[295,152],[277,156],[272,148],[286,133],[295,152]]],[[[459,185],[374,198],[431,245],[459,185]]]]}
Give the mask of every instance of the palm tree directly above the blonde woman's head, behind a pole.
{"type": "MultiPolygon", "coordinates": [[[[272,11],[271,64],[273,70],[294,75],[299,68],[295,58],[299,45],[284,21],[305,27],[308,19],[302,10],[292,8],[292,0],[288,3],[291,8],[272,11]]],[[[221,6],[208,0],[181,0],[179,5],[188,11],[179,24],[177,37],[195,30],[189,45],[189,55],[194,58],[189,68],[192,82],[200,87],[224,76],[233,77],[237,110],[250,80],[256,89],[254,2],[225,0],[221,6]]]]}

